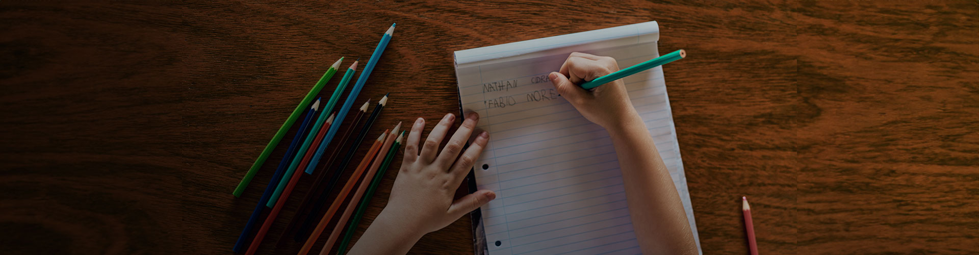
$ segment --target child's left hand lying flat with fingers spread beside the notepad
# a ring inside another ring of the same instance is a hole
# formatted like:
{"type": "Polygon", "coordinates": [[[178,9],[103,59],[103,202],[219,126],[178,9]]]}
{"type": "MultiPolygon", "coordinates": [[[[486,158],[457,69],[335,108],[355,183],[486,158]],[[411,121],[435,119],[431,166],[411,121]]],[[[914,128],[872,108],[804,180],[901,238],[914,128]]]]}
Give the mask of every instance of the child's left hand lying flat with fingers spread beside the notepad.
{"type": "Polygon", "coordinates": [[[386,224],[411,229],[413,235],[421,237],[445,228],[496,198],[496,194],[484,189],[452,201],[459,183],[472,169],[489,141],[489,133],[481,132],[459,157],[459,152],[479,122],[479,115],[470,113],[439,153],[439,145],[454,121],[454,115],[445,115],[442,122],[429,132],[420,155],[419,142],[425,120],[418,118],[415,121],[405,143],[404,161],[391,190],[391,199],[378,217],[386,219],[386,224]]]}

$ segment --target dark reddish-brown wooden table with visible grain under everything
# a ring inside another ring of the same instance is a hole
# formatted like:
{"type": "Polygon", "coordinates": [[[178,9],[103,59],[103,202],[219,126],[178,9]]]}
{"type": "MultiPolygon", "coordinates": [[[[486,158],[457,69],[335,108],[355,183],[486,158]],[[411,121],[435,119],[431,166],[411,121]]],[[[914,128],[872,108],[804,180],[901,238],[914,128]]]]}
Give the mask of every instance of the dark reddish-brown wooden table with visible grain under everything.
{"type": "MultiPolygon", "coordinates": [[[[979,252],[975,1],[683,2],[3,1],[0,249],[231,253],[276,163],[234,186],[393,22],[358,99],[391,92],[370,136],[458,111],[452,51],[658,21],[660,50],[689,52],[665,73],[705,253],[747,252],[742,195],[764,254],[979,252]]],[[[412,253],[470,253],[469,224],[412,253]]]]}

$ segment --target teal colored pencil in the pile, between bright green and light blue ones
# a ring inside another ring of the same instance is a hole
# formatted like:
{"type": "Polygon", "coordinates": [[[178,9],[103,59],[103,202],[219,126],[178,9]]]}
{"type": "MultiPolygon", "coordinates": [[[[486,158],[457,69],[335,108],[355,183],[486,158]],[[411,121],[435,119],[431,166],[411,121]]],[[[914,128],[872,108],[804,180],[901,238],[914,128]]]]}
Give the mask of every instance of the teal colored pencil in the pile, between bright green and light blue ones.
{"type": "MultiPolygon", "coordinates": [[[[359,61],[354,61],[353,64],[350,65],[350,68],[347,69],[347,73],[344,74],[344,78],[340,79],[340,84],[337,84],[337,89],[333,90],[333,95],[330,96],[330,101],[327,101],[326,106],[323,107],[324,111],[333,112],[333,107],[337,105],[337,101],[340,100],[340,94],[344,93],[344,89],[346,89],[347,84],[350,83],[350,78],[353,77],[353,73],[357,69],[358,62],[359,61]]],[[[299,165],[306,154],[306,150],[309,149],[309,146],[312,146],[312,142],[316,138],[316,133],[319,133],[319,129],[323,128],[324,121],[322,120],[325,120],[323,118],[325,118],[328,114],[330,113],[320,114],[316,124],[314,124],[312,129],[310,129],[309,136],[306,136],[305,141],[303,141],[303,146],[301,146],[299,152],[296,153],[296,158],[293,159],[292,164],[290,164],[289,168],[286,169],[285,176],[279,180],[279,185],[275,187],[275,191],[272,192],[272,196],[270,196],[268,198],[268,202],[265,203],[265,206],[268,208],[274,207],[275,202],[279,201],[279,196],[282,195],[282,190],[286,188],[286,184],[289,183],[289,179],[293,177],[293,173],[296,172],[297,168],[299,168],[299,165]]],[[[341,122],[334,121],[334,123],[336,126],[341,125],[341,122]]]]}

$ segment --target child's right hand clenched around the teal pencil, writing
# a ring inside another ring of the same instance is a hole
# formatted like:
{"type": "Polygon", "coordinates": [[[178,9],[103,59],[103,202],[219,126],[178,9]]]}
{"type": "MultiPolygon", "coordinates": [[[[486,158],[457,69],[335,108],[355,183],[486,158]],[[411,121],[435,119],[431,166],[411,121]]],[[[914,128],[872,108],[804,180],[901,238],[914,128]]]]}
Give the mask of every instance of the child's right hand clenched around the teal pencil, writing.
{"type": "Polygon", "coordinates": [[[639,115],[629,101],[626,83],[622,79],[584,90],[578,84],[619,71],[619,64],[611,57],[601,57],[580,52],[572,53],[561,66],[560,72],[550,74],[557,92],[582,113],[584,118],[606,129],[641,123],[639,115]]]}

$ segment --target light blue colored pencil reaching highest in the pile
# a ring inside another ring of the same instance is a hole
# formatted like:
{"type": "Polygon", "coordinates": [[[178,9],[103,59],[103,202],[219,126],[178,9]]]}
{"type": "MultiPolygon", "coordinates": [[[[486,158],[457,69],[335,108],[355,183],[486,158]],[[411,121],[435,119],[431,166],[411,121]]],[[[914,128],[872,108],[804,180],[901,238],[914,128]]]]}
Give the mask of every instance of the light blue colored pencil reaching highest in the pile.
{"type": "Polygon", "coordinates": [[[316,169],[316,165],[319,163],[319,158],[323,156],[323,152],[326,151],[326,147],[330,145],[330,141],[333,140],[333,136],[337,134],[337,130],[340,129],[340,123],[344,122],[344,118],[347,117],[347,112],[350,112],[350,107],[353,107],[353,101],[357,99],[357,95],[360,94],[360,89],[364,87],[364,83],[367,82],[367,77],[370,77],[370,73],[374,71],[374,66],[377,66],[377,61],[381,59],[381,54],[384,53],[384,49],[388,48],[388,42],[391,41],[391,36],[395,35],[395,25],[392,24],[388,31],[384,32],[381,37],[381,41],[377,43],[377,48],[374,48],[374,53],[370,55],[370,60],[367,61],[367,65],[364,66],[364,70],[360,71],[360,77],[357,77],[357,83],[353,84],[353,88],[350,88],[350,95],[347,96],[347,101],[344,102],[344,107],[340,108],[340,112],[337,112],[337,120],[334,121],[338,125],[330,126],[330,130],[326,132],[326,136],[323,137],[323,141],[319,143],[319,148],[316,149],[316,154],[312,155],[309,159],[309,165],[306,165],[305,173],[312,175],[313,170],[316,169]]]}

